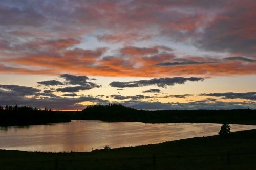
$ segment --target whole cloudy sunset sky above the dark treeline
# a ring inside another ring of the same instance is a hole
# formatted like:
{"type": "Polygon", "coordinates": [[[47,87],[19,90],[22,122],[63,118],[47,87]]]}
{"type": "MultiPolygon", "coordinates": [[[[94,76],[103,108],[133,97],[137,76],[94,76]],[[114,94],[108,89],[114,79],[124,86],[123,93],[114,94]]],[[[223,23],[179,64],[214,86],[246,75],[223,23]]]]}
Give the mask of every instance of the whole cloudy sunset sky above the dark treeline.
{"type": "Polygon", "coordinates": [[[256,1],[0,0],[0,105],[256,109],[256,1]]]}

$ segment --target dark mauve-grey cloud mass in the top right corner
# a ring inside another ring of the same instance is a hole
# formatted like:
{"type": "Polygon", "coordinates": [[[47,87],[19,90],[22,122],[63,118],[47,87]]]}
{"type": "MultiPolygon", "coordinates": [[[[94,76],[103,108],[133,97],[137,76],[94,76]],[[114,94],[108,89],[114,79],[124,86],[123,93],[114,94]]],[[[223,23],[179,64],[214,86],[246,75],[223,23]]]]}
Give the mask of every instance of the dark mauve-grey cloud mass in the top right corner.
{"type": "Polygon", "coordinates": [[[210,51],[255,54],[256,38],[252,29],[255,19],[251,18],[254,16],[255,3],[252,2],[237,3],[220,13],[195,41],[198,47],[210,51]]]}

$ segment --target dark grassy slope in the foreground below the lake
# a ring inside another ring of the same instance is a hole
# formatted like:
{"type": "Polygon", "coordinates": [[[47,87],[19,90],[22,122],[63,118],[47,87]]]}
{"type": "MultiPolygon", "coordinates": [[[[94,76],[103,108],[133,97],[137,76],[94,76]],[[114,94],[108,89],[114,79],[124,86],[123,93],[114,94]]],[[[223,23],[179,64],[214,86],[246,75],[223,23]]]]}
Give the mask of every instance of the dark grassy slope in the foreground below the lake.
{"type": "Polygon", "coordinates": [[[217,135],[93,152],[40,153],[0,150],[0,157],[2,170],[255,169],[256,130],[233,132],[227,138],[217,135]],[[58,167],[55,164],[56,158],[58,167]]]}

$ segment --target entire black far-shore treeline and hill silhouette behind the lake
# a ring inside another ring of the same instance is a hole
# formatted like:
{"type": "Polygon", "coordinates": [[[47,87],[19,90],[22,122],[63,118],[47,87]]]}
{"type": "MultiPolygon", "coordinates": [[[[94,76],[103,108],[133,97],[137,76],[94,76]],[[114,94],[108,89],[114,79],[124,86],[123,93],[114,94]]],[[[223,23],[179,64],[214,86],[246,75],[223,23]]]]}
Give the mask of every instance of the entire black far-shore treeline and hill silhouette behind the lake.
{"type": "Polygon", "coordinates": [[[0,126],[32,125],[71,120],[144,123],[229,123],[256,125],[256,110],[137,110],[119,104],[88,106],[82,111],[38,110],[30,107],[0,110],[0,126]]]}

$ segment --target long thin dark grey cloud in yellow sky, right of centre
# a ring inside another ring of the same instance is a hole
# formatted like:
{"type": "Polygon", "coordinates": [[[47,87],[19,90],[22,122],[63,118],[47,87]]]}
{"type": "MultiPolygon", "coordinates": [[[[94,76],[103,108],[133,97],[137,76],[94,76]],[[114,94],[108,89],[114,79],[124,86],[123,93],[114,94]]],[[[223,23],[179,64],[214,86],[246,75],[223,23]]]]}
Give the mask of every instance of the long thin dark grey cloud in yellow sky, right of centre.
{"type": "Polygon", "coordinates": [[[174,77],[174,78],[155,78],[150,80],[139,80],[139,81],[130,81],[130,82],[111,82],[110,86],[112,87],[142,87],[142,86],[150,86],[157,85],[158,87],[166,87],[173,86],[175,84],[184,84],[186,81],[203,81],[204,78],[198,77],[174,77]]]}

